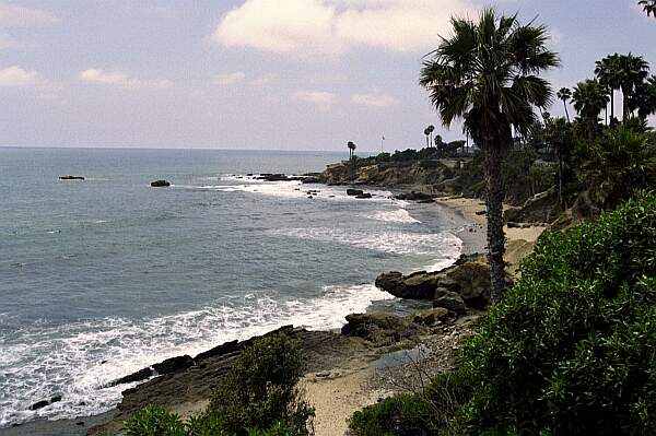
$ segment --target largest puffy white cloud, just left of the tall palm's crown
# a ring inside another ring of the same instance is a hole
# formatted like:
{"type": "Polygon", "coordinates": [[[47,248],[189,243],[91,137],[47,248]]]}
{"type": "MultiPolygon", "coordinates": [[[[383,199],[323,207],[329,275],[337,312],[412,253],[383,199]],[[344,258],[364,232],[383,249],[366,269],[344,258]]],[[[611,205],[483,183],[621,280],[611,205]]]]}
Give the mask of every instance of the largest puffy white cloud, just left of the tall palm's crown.
{"type": "Polygon", "coordinates": [[[274,54],[339,55],[362,46],[423,52],[447,34],[452,15],[472,15],[470,0],[246,0],[211,39],[274,54]]]}

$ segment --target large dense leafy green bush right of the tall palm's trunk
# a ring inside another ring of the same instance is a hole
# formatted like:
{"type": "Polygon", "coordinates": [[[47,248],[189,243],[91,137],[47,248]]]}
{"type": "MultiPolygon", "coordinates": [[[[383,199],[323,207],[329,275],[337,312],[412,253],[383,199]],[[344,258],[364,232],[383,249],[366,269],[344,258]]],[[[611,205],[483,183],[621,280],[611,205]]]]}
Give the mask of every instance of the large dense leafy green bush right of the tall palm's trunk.
{"type": "Polygon", "coordinates": [[[461,356],[459,433],[656,428],[656,196],[541,238],[461,356]]]}

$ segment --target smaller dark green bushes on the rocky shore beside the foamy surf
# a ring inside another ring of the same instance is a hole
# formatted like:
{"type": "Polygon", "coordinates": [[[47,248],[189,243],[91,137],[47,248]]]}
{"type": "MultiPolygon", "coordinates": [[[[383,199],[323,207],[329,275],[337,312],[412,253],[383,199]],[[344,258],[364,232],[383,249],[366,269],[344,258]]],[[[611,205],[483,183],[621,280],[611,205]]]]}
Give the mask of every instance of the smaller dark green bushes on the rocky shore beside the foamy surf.
{"type": "Polygon", "coordinates": [[[206,412],[183,422],[160,406],[125,423],[128,436],[306,436],[314,410],[296,387],[303,369],[298,344],[283,334],[243,351],[206,412]]]}

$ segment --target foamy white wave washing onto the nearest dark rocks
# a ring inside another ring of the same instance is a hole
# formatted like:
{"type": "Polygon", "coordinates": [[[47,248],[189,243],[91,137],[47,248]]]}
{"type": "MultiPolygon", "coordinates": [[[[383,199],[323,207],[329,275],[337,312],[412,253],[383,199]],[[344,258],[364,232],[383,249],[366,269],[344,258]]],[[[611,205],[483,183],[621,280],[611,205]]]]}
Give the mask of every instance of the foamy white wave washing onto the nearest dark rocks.
{"type": "Polygon", "coordinates": [[[277,295],[249,294],[232,304],[179,315],[131,321],[106,318],[57,328],[22,330],[8,341],[0,330],[0,427],[34,419],[67,419],[105,412],[133,386],[102,388],[162,360],[196,355],[220,343],[244,340],[294,325],[335,329],[344,316],[393,297],[373,284],[325,286],[317,298],[280,302],[277,295]],[[60,402],[28,411],[52,394],[60,402]]]}

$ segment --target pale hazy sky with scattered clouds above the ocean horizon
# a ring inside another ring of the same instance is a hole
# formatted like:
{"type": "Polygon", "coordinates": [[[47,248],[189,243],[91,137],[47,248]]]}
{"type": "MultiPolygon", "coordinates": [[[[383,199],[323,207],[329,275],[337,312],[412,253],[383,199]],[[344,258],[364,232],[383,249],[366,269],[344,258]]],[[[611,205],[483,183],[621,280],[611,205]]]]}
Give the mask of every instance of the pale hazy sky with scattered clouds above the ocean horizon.
{"type": "Polygon", "coordinates": [[[0,0],[0,146],[403,150],[427,125],[456,140],[418,85],[449,16],[494,5],[547,24],[560,89],[611,52],[656,73],[656,20],[636,3],[0,0]]]}

